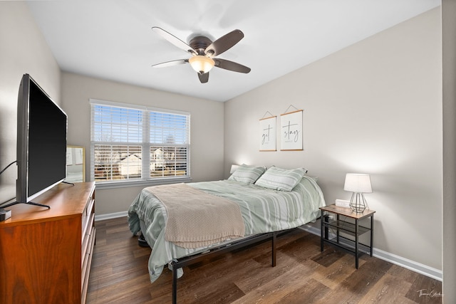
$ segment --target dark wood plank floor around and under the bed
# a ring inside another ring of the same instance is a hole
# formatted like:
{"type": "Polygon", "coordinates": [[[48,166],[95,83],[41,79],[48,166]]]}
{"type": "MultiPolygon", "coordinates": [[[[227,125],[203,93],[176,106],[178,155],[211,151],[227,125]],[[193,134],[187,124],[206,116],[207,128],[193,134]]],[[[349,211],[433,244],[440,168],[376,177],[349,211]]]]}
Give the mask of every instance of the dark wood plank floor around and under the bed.
{"type": "MultiPolygon", "coordinates": [[[[127,219],[95,222],[96,245],[88,303],[170,303],[171,271],[151,284],[150,248],[138,246],[127,219]]],[[[277,266],[271,244],[260,243],[184,269],[178,303],[442,303],[442,284],[392,263],[354,257],[331,246],[320,252],[318,236],[296,230],[278,239],[277,266]]]]}

